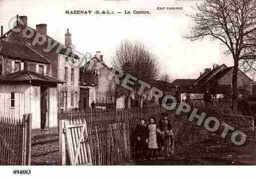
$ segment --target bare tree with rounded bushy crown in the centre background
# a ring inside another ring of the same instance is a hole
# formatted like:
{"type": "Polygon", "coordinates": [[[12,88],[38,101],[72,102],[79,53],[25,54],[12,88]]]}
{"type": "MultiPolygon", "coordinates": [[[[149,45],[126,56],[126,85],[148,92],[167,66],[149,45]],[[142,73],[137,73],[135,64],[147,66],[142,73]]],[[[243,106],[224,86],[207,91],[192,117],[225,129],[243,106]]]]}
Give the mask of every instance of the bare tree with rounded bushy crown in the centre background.
{"type": "MultiPolygon", "coordinates": [[[[160,72],[156,55],[141,42],[122,41],[116,49],[112,63],[125,74],[133,75],[145,82],[157,79],[160,72]]],[[[140,101],[142,104],[142,97],[140,101]]],[[[127,107],[131,107],[131,92],[128,94],[127,107]]]]}

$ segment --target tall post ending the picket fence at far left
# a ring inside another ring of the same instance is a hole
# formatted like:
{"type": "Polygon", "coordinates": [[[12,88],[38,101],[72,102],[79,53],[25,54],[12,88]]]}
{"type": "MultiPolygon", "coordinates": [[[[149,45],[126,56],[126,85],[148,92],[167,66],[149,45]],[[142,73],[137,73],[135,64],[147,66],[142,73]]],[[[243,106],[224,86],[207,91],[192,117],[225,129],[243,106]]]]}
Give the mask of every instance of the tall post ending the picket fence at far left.
{"type": "Polygon", "coordinates": [[[31,165],[31,133],[32,133],[32,114],[26,114],[27,140],[26,140],[26,165],[31,165]]]}

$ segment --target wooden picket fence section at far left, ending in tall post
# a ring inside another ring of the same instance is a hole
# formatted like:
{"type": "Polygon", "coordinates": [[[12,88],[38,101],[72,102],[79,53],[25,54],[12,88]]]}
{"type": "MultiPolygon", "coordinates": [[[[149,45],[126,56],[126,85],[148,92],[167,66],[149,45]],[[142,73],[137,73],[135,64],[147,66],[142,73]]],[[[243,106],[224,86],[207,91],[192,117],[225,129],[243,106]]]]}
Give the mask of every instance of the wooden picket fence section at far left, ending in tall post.
{"type": "Polygon", "coordinates": [[[0,165],[30,165],[31,114],[23,119],[0,117],[0,165]]]}

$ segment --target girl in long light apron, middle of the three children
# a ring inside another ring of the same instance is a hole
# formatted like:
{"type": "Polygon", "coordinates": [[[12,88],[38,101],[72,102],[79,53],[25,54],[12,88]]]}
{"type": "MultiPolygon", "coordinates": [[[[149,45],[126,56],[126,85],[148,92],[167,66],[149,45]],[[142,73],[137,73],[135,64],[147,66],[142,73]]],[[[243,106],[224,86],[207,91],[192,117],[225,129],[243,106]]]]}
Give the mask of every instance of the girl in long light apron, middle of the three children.
{"type": "Polygon", "coordinates": [[[149,125],[148,125],[148,149],[149,149],[149,157],[150,160],[156,160],[156,150],[157,150],[157,125],[155,123],[155,118],[149,118],[149,125]]]}

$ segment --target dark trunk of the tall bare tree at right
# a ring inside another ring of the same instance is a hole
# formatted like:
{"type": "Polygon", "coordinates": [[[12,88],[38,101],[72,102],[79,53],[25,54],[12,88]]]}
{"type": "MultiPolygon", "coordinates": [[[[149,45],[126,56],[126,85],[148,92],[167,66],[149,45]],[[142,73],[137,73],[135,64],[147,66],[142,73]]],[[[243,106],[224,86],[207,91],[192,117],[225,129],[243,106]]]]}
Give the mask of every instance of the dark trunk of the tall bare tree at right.
{"type": "Polygon", "coordinates": [[[232,109],[237,112],[238,107],[238,65],[239,60],[235,60],[234,70],[232,74],[232,109]]]}

